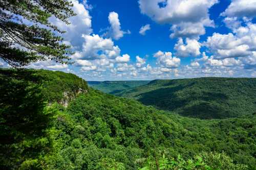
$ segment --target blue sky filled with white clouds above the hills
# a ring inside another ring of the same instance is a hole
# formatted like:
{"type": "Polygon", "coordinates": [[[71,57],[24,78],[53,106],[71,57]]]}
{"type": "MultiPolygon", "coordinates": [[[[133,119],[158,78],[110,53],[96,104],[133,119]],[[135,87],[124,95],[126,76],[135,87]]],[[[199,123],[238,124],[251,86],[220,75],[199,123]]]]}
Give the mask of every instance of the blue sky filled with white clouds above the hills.
{"type": "Polygon", "coordinates": [[[71,1],[70,25],[50,21],[74,63],[29,68],[88,81],[256,77],[256,0],[71,1]]]}

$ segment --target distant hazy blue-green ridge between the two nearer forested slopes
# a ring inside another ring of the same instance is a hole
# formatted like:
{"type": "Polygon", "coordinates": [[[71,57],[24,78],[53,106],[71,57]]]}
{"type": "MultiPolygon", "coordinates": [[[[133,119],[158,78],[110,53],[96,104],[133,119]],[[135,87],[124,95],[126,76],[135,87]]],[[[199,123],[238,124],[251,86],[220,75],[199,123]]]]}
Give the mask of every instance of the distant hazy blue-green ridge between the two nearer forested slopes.
{"type": "Polygon", "coordinates": [[[88,81],[88,85],[94,89],[105,93],[115,94],[120,91],[138,87],[149,83],[150,81],[88,81]]]}

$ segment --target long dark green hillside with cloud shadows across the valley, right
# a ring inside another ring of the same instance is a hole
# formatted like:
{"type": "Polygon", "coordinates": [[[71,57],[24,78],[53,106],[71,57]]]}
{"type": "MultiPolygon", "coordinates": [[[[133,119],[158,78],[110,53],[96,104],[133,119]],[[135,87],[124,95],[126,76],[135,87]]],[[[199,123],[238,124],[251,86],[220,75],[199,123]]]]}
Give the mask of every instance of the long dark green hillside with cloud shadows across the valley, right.
{"type": "Polygon", "coordinates": [[[226,118],[256,112],[255,78],[155,80],[116,95],[189,117],[226,118]]]}

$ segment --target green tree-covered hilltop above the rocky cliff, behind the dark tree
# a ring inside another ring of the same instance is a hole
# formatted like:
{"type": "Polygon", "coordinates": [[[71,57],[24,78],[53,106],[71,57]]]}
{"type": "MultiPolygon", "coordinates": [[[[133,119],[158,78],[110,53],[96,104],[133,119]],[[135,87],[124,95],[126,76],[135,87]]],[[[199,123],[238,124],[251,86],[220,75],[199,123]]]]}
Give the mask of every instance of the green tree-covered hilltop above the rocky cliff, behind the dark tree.
{"type": "MultiPolygon", "coordinates": [[[[67,100],[71,100],[74,99],[79,92],[86,92],[89,90],[86,81],[77,77],[76,75],[68,74],[61,71],[50,71],[43,69],[0,69],[0,74],[4,76],[2,80],[5,80],[6,82],[8,82],[9,79],[4,78],[10,77],[10,75],[16,75],[16,77],[12,80],[22,80],[24,79],[23,77],[26,76],[26,79],[31,79],[28,81],[32,81],[32,83],[36,84],[37,82],[32,79],[36,77],[37,81],[40,81],[40,85],[42,86],[40,89],[42,94],[41,99],[44,99],[49,103],[61,103],[61,101],[65,98],[67,98],[67,100]],[[65,96],[64,93],[66,93],[67,96],[65,96]]],[[[2,88],[5,89],[7,87],[2,88]]],[[[12,85],[9,85],[8,88],[12,88],[15,91],[16,87],[12,87],[12,85]]]]}

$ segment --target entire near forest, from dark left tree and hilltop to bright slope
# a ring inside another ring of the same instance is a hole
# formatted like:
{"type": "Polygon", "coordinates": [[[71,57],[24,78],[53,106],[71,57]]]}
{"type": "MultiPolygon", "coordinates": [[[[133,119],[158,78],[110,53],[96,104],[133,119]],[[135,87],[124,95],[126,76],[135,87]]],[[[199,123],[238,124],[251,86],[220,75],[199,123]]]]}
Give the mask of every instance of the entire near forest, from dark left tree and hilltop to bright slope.
{"type": "Polygon", "coordinates": [[[1,169],[256,168],[255,114],[182,117],[59,71],[1,70],[0,91],[1,169]]]}

